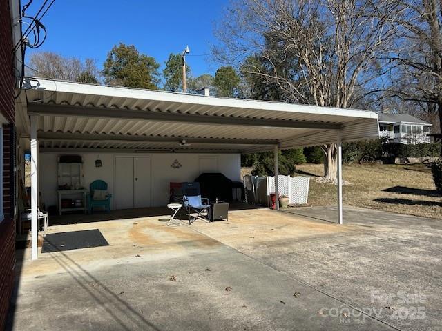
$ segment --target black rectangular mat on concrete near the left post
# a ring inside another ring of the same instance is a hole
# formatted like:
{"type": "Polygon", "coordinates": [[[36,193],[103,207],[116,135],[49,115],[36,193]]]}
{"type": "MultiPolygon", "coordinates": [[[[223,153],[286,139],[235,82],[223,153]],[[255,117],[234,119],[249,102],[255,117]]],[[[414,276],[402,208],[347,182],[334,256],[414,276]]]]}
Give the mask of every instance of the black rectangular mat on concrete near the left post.
{"type": "Polygon", "coordinates": [[[59,252],[63,250],[78,250],[79,248],[91,248],[108,246],[102,232],[98,229],[60,232],[47,234],[44,237],[42,253],[59,252]]]}

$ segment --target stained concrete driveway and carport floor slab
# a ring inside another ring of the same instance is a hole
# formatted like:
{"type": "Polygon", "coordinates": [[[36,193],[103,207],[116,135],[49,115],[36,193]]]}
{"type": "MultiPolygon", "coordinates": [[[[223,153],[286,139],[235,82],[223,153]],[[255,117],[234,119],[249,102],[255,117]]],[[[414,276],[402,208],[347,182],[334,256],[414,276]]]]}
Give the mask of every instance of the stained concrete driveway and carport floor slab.
{"type": "Polygon", "coordinates": [[[99,230],[108,245],[32,263],[19,251],[8,329],[442,330],[442,222],[345,217],[238,210],[191,227],[160,216],[51,227],[99,230]]]}

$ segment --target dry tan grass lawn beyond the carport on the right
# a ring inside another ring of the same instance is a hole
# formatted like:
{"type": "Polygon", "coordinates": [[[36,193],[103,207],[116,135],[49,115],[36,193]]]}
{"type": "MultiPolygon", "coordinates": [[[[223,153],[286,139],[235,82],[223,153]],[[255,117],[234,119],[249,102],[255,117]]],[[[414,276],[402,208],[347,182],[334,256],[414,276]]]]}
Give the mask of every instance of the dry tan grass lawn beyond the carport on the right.
{"type": "MultiPolygon", "coordinates": [[[[314,180],[323,176],[323,165],[297,165],[296,170],[312,177],[308,205],[336,204],[336,185],[314,180]]],[[[425,165],[344,165],[343,180],[350,183],[343,187],[345,205],[442,218],[442,198],[425,165]]]]}

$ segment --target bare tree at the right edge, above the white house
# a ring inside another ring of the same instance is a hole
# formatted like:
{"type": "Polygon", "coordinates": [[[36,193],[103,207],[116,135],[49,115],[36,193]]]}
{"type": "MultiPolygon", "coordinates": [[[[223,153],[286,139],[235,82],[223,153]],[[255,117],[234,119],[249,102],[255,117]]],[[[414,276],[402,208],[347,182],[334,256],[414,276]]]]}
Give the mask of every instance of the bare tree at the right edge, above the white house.
{"type": "MultiPolygon", "coordinates": [[[[436,0],[398,0],[390,17],[400,33],[390,56],[398,67],[387,97],[421,106],[427,120],[442,131],[442,5],[436,0]]],[[[436,128],[434,128],[437,130],[436,128]]],[[[434,130],[434,132],[438,132],[434,130]]],[[[441,150],[442,157],[442,150],[441,150]]]]}

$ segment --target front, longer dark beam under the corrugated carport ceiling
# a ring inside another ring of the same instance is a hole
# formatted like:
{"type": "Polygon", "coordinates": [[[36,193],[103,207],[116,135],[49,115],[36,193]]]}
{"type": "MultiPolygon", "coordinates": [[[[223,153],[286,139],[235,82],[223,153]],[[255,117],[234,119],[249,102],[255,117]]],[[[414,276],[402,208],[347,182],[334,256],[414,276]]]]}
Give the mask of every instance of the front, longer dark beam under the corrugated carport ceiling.
{"type": "Polygon", "coordinates": [[[338,130],[340,123],[295,121],[278,119],[247,119],[222,117],[215,115],[180,114],[170,112],[152,112],[143,110],[126,110],[93,106],[70,106],[44,103],[29,103],[28,114],[61,116],[61,117],[97,117],[107,119],[126,119],[137,121],[160,121],[171,123],[209,124],[220,126],[255,126],[269,128],[313,128],[338,130]]]}

